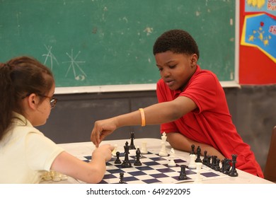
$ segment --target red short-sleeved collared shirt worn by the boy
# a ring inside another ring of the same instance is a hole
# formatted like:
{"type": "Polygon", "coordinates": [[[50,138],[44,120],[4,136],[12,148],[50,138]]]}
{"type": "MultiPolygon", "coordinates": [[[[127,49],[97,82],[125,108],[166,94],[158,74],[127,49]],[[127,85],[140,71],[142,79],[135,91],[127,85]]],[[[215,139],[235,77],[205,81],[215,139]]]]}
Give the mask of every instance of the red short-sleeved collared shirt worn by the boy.
{"type": "Polygon", "coordinates": [[[160,79],[156,93],[159,103],[185,96],[197,105],[195,110],[180,119],[161,124],[161,133],[180,132],[189,139],[212,145],[226,158],[231,159],[231,155],[236,154],[238,156],[236,168],[263,177],[250,146],[243,142],[236,131],[224,90],[215,74],[197,66],[195,74],[182,92],[172,91],[160,79]]]}

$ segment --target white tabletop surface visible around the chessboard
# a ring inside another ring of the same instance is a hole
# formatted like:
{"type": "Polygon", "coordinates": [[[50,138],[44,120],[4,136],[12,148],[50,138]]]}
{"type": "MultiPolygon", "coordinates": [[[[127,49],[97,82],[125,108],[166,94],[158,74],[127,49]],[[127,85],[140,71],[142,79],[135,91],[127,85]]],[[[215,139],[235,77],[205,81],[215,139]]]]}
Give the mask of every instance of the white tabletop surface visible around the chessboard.
{"type": "MultiPolygon", "coordinates": [[[[130,139],[120,139],[120,140],[111,140],[111,141],[103,141],[101,144],[117,144],[117,150],[120,152],[124,152],[123,146],[125,146],[125,142],[128,141],[130,143],[130,139]]],[[[134,145],[139,148],[142,147],[142,143],[146,142],[146,148],[149,151],[159,151],[161,149],[161,139],[134,139],[134,145]]],[[[95,146],[91,141],[88,142],[77,142],[77,143],[69,143],[69,144],[59,144],[62,148],[65,149],[68,153],[77,158],[83,158],[83,156],[91,156],[91,153],[95,146]]],[[[166,142],[166,150],[170,151],[171,146],[166,142]]],[[[189,154],[187,152],[175,150],[176,156],[181,156],[181,158],[185,158],[189,161],[189,154]]],[[[188,164],[187,164],[188,165],[188,164]]],[[[208,184],[274,184],[269,180],[265,180],[263,178],[257,177],[255,175],[251,175],[250,173],[246,173],[242,170],[238,171],[238,177],[227,177],[224,178],[217,178],[214,180],[202,180],[202,183],[208,184]]],[[[63,183],[63,184],[76,184],[76,183],[83,183],[79,180],[75,180],[72,177],[69,177],[68,180],[62,180],[59,182],[53,181],[43,181],[41,183],[63,183]]],[[[192,183],[192,182],[185,182],[185,183],[192,183]]]]}

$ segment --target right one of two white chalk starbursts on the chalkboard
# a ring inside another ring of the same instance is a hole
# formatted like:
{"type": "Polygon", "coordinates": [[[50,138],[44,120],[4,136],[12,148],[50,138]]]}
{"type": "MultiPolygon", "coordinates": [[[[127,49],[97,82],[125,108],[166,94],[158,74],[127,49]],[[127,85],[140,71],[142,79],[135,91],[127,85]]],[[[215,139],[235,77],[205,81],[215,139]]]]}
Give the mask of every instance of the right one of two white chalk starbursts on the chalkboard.
{"type": "Polygon", "coordinates": [[[84,61],[76,61],[76,58],[79,57],[80,53],[81,53],[81,51],[79,51],[78,54],[76,54],[76,56],[74,56],[73,49],[71,49],[71,55],[68,54],[68,52],[66,52],[70,61],[62,62],[62,63],[70,63],[70,65],[69,65],[69,68],[67,69],[67,73],[66,73],[65,77],[67,77],[69,71],[72,69],[72,71],[74,73],[74,78],[76,81],[84,81],[84,79],[86,78],[86,73],[84,72],[84,70],[81,69],[81,66],[79,66],[79,64],[85,63],[85,62],[84,61]],[[76,74],[76,69],[79,69],[81,74],[76,74]]]}

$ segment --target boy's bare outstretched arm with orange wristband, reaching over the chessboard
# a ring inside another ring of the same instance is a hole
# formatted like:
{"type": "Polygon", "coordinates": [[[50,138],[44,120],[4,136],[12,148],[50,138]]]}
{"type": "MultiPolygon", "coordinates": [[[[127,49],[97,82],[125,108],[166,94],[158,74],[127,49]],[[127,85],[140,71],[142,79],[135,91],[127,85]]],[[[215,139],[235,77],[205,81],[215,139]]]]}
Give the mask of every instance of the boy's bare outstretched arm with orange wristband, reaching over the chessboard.
{"type": "MultiPolygon", "coordinates": [[[[172,122],[186,113],[195,110],[196,107],[197,105],[195,105],[193,100],[184,96],[180,96],[170,102],[157,103],[145,107],[144,116],[146,125],[172,122]]],[[[141,114],[139,110],[106,120],[98,120],[95,122],[91,132],[91,141],[98,147],[105,136],[113,133],[115,129],[125,126],[140,125],[141,123],[141,114]]]]}

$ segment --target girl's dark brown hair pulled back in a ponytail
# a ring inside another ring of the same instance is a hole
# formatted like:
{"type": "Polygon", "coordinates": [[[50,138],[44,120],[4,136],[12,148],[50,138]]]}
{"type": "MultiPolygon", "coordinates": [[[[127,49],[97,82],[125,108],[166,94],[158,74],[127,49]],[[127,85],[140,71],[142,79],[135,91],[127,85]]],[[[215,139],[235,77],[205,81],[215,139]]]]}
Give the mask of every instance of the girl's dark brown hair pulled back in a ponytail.
{"type": "Polygon", "coordinates": [[[31,93],[47,95],[53,84],[52,71],[32,57],[0,63],[0,140],[11,124],[13,111],[23,113],[21,100],[31,93]]]}

